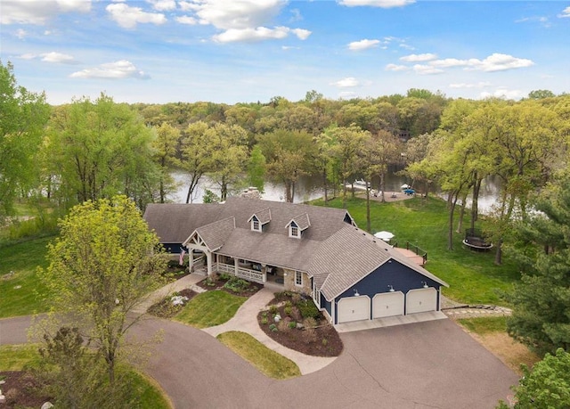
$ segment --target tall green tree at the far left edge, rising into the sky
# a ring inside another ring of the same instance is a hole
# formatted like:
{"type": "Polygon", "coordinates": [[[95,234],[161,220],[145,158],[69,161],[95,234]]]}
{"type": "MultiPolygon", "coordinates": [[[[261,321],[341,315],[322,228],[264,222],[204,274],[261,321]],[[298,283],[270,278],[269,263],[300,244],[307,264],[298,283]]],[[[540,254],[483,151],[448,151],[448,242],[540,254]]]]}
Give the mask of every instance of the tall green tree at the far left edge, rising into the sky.
{"type": "Polygon", "coordinates": [[[18,192],[37,183],[37,154],[49,111],[45,94],[18,86],[12,64],[0,61],[0,221],[12,214],[18,192]]]}

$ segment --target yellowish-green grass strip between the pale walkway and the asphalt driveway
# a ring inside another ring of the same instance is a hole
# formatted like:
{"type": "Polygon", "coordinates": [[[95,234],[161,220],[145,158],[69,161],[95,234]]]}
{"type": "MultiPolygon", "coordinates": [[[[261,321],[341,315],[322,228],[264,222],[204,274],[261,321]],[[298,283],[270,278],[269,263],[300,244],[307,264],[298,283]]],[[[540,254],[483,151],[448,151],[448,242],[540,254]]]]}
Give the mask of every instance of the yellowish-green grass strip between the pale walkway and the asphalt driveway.
{"type": "Polygon", "coordinates": [[[216,338],[270,378],[286,380],[301,376],[297,364],[265,347],[264,344],[245,332],[224,332],[216,338]]]}

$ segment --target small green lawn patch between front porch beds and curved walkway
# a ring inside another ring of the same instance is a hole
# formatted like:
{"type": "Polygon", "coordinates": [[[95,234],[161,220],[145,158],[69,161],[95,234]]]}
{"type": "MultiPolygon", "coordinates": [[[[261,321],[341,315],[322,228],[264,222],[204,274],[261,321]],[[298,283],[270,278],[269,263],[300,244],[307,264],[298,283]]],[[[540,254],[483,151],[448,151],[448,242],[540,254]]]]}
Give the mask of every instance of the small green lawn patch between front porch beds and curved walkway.
{"type": "Polygon", "coordinates": [[[175,320],[196,328],[213,327],[230,320],[246,300],[222,290],[203,292],[191,299],[175,320]]]}

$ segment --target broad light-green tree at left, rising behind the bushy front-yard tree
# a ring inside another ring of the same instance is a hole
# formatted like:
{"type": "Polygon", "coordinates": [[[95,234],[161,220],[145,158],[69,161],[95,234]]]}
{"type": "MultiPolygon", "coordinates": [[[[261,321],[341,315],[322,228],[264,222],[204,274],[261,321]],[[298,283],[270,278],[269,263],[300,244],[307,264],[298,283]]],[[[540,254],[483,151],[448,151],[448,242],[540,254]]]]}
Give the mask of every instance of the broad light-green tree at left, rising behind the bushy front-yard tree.
{"type": "Polygon", "coordinates": [[[128,105],[105,94],[77,100],[55,110],[48,135],[60,194],[83,202],[125,193],[142,207],[153,200],[154,134],[128,105]]]}

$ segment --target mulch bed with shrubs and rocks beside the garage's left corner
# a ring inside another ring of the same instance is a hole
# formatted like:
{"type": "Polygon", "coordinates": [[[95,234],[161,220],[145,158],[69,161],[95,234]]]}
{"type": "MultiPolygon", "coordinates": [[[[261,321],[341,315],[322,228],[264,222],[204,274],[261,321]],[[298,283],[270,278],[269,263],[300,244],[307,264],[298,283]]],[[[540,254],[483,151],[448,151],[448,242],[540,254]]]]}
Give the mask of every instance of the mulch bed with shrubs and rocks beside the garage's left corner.
{"type": "Polygon", "coordinates": [[[257,315],[261,329],[274,341],[310,356],[339,356],[343,343],[338,332],[314,306],[312,299],[287,291],[276,294],[257,315]],[[275,316],[281,319],[278,322],[275,316]],[[300,325],[299,325],[300,324],[300,325]]]}

